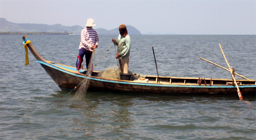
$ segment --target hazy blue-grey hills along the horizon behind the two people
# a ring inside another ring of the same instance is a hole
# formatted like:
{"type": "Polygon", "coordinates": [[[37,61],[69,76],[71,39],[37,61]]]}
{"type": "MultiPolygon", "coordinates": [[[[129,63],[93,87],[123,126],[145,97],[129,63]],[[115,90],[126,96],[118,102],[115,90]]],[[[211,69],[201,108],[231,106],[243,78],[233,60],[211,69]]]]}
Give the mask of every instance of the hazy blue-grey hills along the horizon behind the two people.
{"type": "MultiPolygon", "coordinates": [[[[50,33],[73,33],[80,34],[82,26],[62,26],[61,24],[47,25],[47,24],[30,24],[30,23],[13,23],[8,22],[5,18],[0,18],[0,32],[50,32],[50,33]]],[[[141,34],[135,27],[127,25],[129,34],[141,34]]],[[[100,35],[119,34],[118,28],[110,31],[104,28],[96,28],[100,35]]]]}

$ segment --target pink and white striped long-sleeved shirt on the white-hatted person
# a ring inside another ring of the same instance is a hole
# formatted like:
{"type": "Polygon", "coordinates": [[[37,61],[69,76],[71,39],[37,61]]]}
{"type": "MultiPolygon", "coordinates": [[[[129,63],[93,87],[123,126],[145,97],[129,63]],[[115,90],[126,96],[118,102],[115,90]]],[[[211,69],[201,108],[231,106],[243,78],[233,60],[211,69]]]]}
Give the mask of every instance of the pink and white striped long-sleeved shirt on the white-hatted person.
{"type": "Polygon", "coordinates": [[[99,43],[99,36],[95,29],[84,28],[81,31],[81,42],[79,49],[85,48],[88,51],[92,51],[91,47],[99,43]]]}

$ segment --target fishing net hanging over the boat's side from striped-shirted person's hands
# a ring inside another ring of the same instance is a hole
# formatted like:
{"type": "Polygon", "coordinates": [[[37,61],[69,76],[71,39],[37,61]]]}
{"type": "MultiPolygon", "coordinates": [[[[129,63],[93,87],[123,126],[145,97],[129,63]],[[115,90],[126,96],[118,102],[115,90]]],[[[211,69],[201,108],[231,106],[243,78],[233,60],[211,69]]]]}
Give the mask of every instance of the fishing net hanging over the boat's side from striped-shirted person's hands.
{"type": "Polygon", "coordinates": [[[92,52],[90,63],[88,64],[87,72],[86,72],[86,77],[83,78],[83,80],[78,84],[77,86],[77,91],[73,99],[81,99],[84,98],[87,92],[87,89],[90,84],[90,79],[87,78],[87,76],[91,76],[92,74],[92,61],[93,61],[93,55],[95,51],[92,52]]]}

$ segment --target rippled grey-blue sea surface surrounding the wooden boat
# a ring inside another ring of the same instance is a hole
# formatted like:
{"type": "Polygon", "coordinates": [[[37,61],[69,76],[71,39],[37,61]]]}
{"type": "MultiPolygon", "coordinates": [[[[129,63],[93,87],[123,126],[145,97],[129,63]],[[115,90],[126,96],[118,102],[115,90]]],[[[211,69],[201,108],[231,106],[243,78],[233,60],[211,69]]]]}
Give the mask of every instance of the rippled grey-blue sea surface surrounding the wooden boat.
{"type": "MultiPolygon", "coordinates": [[[[21,35],[1,35],[0,139],[256,139],[255,96],[157,96],[90,92],[65,97],[29,52],[21,35]]],[[[75,67],[80,36],[29,35],[43,58],[75,67]]],[[[116,66],[115,46],[100,36],[95,67],[116,66]]],[[[160,76],[228,78],[221,44],[235,72],[256,79],[256,36],[131,36],[129,70],[160,76]]],[[[237,79],[242,79],[236,76],[237,79]]]]}

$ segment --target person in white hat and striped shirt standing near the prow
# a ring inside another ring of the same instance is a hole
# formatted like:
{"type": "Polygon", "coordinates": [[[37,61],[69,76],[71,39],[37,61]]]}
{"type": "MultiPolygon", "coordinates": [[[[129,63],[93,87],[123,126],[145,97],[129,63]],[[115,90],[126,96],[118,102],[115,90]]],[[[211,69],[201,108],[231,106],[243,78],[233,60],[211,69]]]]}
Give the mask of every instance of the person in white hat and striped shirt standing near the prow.
{"type": "Polygon", "coordinates": [[[87,19],[85,28],[81,31],[81,42],[79,45],[79,54],[76,61],[76,74],[80,74],[79,69],[81,68],[81,63],[83,62],[83,56],[85,56],[86,69],[88,69],[92,51],[98,47],[99,36],[96,30],[92,28],[93,26],[96,26],[96,24],[94,24],[92,18],[89,18],[87,19]]]}

